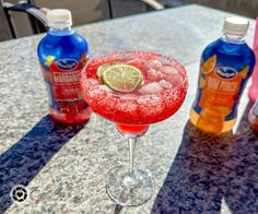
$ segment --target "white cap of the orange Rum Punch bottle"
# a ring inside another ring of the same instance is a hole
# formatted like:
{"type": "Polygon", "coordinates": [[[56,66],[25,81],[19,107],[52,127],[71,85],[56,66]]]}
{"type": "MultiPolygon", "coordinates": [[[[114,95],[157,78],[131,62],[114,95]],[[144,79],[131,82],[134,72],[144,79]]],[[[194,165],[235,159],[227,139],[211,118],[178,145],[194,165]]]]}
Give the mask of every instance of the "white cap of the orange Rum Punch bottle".
{"type": "Polygon", "coordinates": [[[226,17],[224,21],[223,33],[236,36],[245,36],[249,27],[248,20],[244,17],[226,17]]]}

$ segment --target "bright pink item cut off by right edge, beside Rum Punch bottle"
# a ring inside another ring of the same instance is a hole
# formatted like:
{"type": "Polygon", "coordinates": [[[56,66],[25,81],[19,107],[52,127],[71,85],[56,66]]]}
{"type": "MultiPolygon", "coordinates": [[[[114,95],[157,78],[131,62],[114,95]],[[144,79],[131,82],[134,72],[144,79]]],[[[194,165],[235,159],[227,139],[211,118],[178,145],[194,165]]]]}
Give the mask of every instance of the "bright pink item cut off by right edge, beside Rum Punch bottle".
{"type": "MultiPolygon", "coordinates": [[[[254,52],[256,56],[256,61],[258,61],[258,17],[256,19],[254,52]]],[[[251,75],[251,85],[249,87],[248,95],[253,102],[255,102],[256,98],[258,98],[258,64],[255,66],[255,69],[251,75]]]]}

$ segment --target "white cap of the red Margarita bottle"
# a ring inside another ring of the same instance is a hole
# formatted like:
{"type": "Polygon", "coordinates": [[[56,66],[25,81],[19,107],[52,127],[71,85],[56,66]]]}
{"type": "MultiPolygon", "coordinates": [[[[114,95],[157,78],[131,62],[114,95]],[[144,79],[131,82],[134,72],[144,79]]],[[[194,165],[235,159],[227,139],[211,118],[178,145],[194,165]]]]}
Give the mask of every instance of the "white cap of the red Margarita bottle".
{"type": "Polygon", "coordinates": [[[50,28],[70,27],[72,25],[71,12],[66,9],[55,9],[48,11],[47,25],[50,28]]]}

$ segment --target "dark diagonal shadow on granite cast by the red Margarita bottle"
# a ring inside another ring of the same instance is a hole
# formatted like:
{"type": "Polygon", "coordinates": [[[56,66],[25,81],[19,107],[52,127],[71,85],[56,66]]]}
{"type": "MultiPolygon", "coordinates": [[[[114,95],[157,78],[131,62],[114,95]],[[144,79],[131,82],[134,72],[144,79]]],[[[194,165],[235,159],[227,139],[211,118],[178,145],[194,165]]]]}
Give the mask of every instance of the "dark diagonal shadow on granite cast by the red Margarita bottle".
{"type": "Polygon", "coordinates": [[[84,123],[64,124],[47,115],[12,147],[0,155],[0,213],[12,204],[10,191],[15,185],[27,186],[50,158],[84,123]]]}

